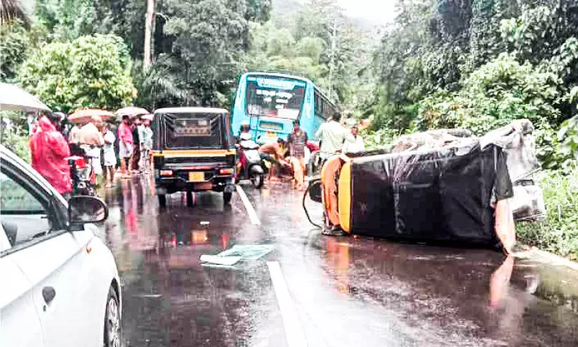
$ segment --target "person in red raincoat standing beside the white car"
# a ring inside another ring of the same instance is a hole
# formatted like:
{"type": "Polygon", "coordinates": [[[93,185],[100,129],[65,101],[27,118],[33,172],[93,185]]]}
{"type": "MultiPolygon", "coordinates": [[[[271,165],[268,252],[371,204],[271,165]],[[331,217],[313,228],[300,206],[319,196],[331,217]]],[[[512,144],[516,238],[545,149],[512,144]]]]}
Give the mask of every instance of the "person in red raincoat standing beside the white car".
{"type": "Polygon", "coordinates": [[[62,195],[72,192],[70,166],[65,159],[70,157],[70,148],[55,124],[58,115],[50,114],[39,119],[30,136],[32,167],[62,195]]]}

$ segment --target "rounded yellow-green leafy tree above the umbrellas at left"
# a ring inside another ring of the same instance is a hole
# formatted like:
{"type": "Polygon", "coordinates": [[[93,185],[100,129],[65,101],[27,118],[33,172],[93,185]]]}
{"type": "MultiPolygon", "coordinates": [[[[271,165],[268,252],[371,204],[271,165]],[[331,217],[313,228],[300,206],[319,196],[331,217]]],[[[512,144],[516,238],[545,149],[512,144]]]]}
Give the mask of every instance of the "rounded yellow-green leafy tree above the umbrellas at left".
{"type": "Polygon", "coordinates": [[[131,102],[131,61],[119,37],[100,35],[53,42],[29,55],[18,78],[54,110],[114,110],[131,102]]]}

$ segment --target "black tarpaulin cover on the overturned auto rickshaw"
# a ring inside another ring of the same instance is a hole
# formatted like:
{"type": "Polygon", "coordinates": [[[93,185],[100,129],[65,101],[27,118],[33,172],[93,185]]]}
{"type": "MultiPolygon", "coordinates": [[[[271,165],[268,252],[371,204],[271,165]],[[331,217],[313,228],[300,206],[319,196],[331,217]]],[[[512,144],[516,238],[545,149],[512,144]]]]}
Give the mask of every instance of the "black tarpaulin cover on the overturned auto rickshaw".
{"type": "Polygon", "coordinates": [[[501,148],[372,155],[351,160],[350,232],[497,244],[490,202],[512,196],[501,148]],[[464,152],[464,151],[461,151],[464,152]]]}

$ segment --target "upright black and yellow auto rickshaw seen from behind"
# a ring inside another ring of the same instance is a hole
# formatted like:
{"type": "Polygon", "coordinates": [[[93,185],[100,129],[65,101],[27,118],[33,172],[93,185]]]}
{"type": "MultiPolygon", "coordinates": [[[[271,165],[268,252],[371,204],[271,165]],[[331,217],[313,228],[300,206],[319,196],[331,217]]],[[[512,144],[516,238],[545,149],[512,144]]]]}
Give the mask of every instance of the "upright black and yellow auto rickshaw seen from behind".
{"type": "Polygon", "coordinates": [[[166,194],[223,192],[228,204],[235,190],[235,141],[227,110],[172,107],[155,111],[152,123],[155,186],[159,205],[166,194]]]}

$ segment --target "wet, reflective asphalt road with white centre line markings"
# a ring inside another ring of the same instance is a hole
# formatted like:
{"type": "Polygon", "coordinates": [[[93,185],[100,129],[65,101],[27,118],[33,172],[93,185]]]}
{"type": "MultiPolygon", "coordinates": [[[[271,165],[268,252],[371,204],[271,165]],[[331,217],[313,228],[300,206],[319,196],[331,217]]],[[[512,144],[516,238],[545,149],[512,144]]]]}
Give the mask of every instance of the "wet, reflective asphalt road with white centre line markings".
{"type": "Polygon", "coordinates": [[[238,194],[230,207],[175,194],[159,211],[150,188],[121,181],[106,196],[125,346],[578,346],[578,272],[535,254],[324,236],[279,188],[243,186],[260,224],[238,194]],[[199,261],[235,244],[274,251],[199,261]]]}

